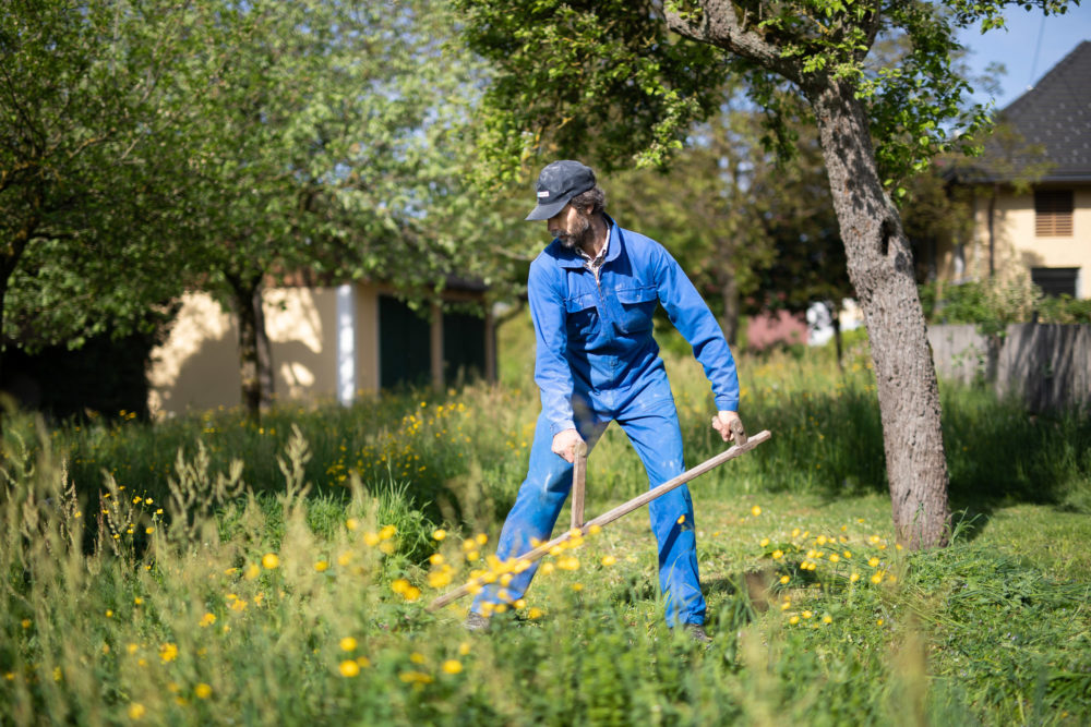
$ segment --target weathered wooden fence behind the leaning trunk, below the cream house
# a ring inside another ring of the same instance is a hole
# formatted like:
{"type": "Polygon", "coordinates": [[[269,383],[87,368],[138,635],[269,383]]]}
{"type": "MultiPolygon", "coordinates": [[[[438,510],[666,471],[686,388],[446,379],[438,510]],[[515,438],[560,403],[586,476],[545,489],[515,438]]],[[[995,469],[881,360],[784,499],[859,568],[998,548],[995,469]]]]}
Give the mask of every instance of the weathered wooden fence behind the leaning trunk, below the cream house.
{"type": "Polygon", "coordinates": [[[1016,324],[992,340],[972,325],[932,326],[928,342],[940,378],[984,380],[1031,411],[1091,409],[1091,326],[1016,324]]]}

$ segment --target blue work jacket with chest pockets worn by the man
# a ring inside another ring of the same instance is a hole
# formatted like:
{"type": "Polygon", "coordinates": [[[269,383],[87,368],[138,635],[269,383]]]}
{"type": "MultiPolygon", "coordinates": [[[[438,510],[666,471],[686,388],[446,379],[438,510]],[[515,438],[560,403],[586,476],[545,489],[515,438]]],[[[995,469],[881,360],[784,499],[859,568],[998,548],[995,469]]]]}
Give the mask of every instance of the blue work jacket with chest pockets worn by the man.
{"type": "Polygon", "coordinates": [[[551,242],[530,265],[528,296],[535,325],[535,381],[553,434],[575,428],[572,400],[594,409],[619,391],[662,375],[651,315],[662,303],[693,347],[719,410],[738,411],[739,376],[723,331],[697,289],[667,250],[607,218],[610,242],[599,279],[576,250],[551,242]]]}

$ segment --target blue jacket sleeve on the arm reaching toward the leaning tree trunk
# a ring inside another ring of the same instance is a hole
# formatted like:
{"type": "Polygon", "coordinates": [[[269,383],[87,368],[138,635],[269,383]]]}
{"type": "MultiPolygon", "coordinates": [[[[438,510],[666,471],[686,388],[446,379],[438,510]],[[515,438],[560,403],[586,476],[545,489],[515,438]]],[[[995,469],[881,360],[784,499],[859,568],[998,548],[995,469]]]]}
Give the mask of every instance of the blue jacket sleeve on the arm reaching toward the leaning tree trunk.
{"type": "Polygon", "coordinates": [[[664,247],[657,247],[659,302],[705,368],[705,376],[712,385],[716,408],[739,411],[739,374],[720,324],[678,262],[664,247]]]}

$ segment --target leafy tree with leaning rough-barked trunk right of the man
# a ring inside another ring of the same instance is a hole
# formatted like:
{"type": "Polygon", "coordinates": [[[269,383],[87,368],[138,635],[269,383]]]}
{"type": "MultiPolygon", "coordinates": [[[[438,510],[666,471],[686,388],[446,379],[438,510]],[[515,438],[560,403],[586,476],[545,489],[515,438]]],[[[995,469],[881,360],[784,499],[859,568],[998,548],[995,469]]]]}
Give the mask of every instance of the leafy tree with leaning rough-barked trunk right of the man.
{"type": "MultiPolygon", "coordinates": [[[[776,123],[786,98],[811,106],[849,276],[875,364],[887,478],[898,540],[948,537],[940,405],[911,250],[895,199],[899,181],[935,154],[964,146],[984,110],[961,110],[956,28],[1003,24],[1002,0],[459,0],[470,46],[497,66],[487,96],[487,163],[519,178],[535,154],[576,154],[609,168],[656,162],[707,118],[729,71],[776,123]],[[671,36],[668,29],[683,39],[671,36]],[[872,64],[882,34],[904,34],[897,64],[872,64]]],[[[1020,1],[1063,12],[1062,0],[1020,1]]],[[[782,133],[772,141],[787,146],[782,133]]]]}

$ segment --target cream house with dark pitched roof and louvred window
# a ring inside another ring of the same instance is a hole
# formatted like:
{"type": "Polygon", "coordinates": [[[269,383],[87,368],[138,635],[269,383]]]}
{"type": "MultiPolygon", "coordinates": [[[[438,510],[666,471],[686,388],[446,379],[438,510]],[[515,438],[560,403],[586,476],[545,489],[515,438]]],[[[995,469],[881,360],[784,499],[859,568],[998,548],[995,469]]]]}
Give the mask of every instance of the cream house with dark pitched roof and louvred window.
{"type": "Polygon", "coordinates": [[[973,232],[930,251],[940,280],[1026,276],[1091,298],[1091,41],[999,112],[984,154],[947,177],[971,192],[973,232]]]}

